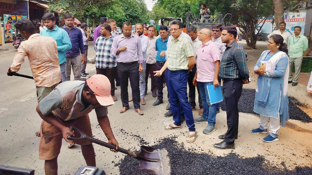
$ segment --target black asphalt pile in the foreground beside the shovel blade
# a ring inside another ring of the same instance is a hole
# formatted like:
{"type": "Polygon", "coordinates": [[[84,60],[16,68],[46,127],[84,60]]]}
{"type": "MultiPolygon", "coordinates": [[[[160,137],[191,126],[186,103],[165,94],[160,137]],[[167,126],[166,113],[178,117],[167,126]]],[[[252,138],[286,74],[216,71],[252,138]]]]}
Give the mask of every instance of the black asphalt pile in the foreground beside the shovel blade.
{"type": "MultiPolygon", "coordinates": [[[[172,175],[311,175],[312,168],[296,167],[294,170],[280,169],[266,165],[265,158],[258,155],[254,158],[241,158],[230,153],[225,157],[211,156],[197,153],[196,149],[186,149],[184,144],[178,143],[176,136],[158,140],[152,146],[156,149],[167,149],[170,159],[172,175]],[[195,152],[196,151],[196,152],[195,152]]],[[[202,152],[202,148],[199,148],[202,152]]],[[[288,160],[289,161],[289,160],[288,160]]],[[[115,166],[119,167],[120,175],[151,175],[139,170],[139,161],[131,156],[125,156],[115,166]]]]}

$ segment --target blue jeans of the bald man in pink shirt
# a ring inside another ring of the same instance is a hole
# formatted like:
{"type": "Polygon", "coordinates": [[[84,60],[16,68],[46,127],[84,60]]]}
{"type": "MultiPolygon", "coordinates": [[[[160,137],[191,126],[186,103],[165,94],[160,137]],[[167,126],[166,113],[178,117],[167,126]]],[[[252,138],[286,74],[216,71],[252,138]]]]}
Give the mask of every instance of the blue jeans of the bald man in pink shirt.
{"type": "Polygon", "coordinates": [[[197,82],[199,86],[200,96],[202,97],[202,118],[208,121],[208,125],[214,126],[216,124],[217,104],[210,104],[207,86],[212,85],[213,82],[197,82]]]}

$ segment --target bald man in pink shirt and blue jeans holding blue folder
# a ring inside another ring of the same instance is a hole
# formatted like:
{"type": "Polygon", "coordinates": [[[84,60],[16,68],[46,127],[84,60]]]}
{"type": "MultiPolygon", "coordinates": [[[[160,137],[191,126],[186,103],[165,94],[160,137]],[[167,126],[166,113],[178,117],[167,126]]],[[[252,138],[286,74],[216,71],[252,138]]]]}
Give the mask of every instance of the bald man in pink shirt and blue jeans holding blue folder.
{"type": "Polygon", "coordinates": [[[195,123],[208,123],[202,131],[205,134],[211,134],[216,130],[214,125],[217,115],[217,104],[210,103],[207,86],[219,86],[220,50],[211,41],[211,34],[211,30],[206,28],[198,33],[198,39],[202,41],[202,45],[197,52],[197,71],[193,79],[193,85],[197,84],[199,87],[204,110],[203,115],[194,121],[195,123]]]}

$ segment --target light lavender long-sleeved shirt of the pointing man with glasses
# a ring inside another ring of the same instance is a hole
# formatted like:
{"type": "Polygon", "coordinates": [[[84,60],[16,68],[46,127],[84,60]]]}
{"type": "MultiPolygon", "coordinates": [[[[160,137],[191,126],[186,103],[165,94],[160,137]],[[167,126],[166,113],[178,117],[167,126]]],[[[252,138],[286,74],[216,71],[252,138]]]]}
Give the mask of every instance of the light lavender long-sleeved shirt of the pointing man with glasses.
{"type": "Polygon", "coordinates": [[[110,50],[114,56],[116,56],[117,62],[121,63],[130,63],[134,61],[139,61],[139,63],[143,63],[143,52],[142,52],[142,44],[139,36],[131,33],[130,38],[124,37],[124,34],[118,35],[114,38],[112,49],[110,50]],[[122,46],[126,46],[127,49],[119,52],[117,55],[117,49],[122,46]]]}

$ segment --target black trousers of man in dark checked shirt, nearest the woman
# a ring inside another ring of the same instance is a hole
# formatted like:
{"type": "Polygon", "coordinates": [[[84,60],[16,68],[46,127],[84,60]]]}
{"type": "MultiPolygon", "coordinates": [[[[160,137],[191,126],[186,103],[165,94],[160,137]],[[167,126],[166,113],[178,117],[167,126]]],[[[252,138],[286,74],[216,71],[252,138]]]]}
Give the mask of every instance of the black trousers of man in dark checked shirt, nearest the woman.
{"type": "Polygon", "coordinates": [[[240,79],[223,82],[223,95],[227,110],[227,133],[224,141],[233,144],[238,134],[238,101],[241,97],[243,82],[240,79]]]}

